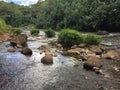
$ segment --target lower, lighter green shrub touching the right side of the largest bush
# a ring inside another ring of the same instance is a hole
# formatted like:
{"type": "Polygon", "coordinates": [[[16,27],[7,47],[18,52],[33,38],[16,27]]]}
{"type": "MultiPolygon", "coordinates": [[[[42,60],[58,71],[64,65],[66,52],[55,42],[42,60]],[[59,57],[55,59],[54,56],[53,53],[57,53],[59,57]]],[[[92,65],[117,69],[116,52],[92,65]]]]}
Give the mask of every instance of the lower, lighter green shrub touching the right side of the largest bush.
{"type": "Polygon", "coordinates": [[[96,34],[86,34],[83,36],[84,37],[84,43],[87,45],[98,45],[101,42],[101,37],[96,35],[96,34]]]}

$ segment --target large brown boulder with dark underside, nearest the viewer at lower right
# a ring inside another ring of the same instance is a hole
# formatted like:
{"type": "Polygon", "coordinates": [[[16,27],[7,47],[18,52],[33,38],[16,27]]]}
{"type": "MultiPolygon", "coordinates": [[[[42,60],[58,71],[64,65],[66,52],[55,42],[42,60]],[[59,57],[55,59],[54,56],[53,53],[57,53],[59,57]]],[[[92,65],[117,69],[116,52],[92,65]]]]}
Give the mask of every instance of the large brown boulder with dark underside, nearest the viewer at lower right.
{"type": "Polygon", "coordinates": [[[90,56],[83,65],[85,69],[93,69],[94,67],[100,68],[101,66],[101,61],[95,56],[90,56]]]}

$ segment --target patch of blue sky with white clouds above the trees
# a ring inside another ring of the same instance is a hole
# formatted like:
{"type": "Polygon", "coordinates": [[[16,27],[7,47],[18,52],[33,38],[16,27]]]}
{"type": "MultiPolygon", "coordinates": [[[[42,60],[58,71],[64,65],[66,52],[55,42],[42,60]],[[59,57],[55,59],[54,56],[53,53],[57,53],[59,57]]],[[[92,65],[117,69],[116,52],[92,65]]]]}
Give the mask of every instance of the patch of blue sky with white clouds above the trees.
{"type": "Polygon", "coordinates": [[[14,2],[19,5],[29,6],[31,4],[37,3],[38,0],[3,0],[5,2],[14,2]]]}

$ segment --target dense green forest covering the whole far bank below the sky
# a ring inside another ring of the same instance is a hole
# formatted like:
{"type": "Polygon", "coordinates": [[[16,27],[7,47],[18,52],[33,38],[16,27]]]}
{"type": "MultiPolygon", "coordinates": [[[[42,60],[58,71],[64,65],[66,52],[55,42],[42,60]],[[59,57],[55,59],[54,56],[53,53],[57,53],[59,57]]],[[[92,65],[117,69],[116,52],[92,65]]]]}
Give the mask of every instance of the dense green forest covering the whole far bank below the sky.
{"type": "Polygon", "coordinates": [[[0,17],[14,27],[119,31],[120,0],[39,0],[30,7],[1,1],[0,17]]]}

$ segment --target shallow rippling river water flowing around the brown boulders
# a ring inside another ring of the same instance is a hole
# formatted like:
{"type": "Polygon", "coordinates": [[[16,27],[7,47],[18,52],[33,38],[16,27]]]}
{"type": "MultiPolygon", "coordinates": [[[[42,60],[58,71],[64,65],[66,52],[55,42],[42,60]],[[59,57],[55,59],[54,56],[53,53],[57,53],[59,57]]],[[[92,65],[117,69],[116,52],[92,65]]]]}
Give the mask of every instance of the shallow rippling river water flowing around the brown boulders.
{"type": "MultiPolygon", "coordinates": [[[[29,33],[29,31],[24,31],[29,33]]],[[[0,43],[0,90],[120,90],[120,58],[102,59],[101,73],[96,74],[83,68],[83,61],[61,55],[51,47],[53,64],[41,63],[44,56],[37,48],[48,45],[50,40],[41,31],[38,37],[28,37],[31,56],[19,52],[8,52],[0,43]]],[[[120,55],[120,36],[103,36],[107,49],[116,50],[120,55]]]]}

